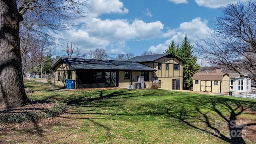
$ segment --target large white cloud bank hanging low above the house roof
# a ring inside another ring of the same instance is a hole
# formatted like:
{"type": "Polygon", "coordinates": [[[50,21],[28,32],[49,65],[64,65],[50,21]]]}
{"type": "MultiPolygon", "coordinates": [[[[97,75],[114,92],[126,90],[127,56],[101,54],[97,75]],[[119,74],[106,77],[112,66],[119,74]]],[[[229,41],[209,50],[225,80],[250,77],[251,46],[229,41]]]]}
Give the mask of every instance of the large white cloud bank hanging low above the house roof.
{"type": "Polygon", "coordinates": [[[80,48],[87,52],[96,48],[106,49],[109,54],[122,53],[128,49],[127,40],[146,40],[160,36],[164,25],[160,21],[146,23],[142,20],[101,20],[92,18],[81,25],[78,30],[67,32],[70,42],[80,44],[80,48]],[[119,50],[119,53],[117,52],[119,50]]]}

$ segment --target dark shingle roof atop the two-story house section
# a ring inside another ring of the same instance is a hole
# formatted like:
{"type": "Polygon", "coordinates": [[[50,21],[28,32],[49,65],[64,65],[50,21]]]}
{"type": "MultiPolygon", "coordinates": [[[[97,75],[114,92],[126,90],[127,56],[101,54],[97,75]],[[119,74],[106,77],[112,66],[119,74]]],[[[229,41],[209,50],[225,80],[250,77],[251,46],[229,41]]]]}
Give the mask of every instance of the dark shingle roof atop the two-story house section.
{"type": "Polygon", "coordinates": [[[129,60],[126,60],[126,61],[130,61],[130,62],[154,62],[155,60],[158,60],[159,58],[163,58],[163,57],[177,58],[178,60],[180,60],[183,63],[185,63],[183,60],[181,60],[180,58],[178,58],[177,56],[175,56],[172,53],[168,53],[168,54],[153,54],[153,55],[147,55],[147,56],[136,56],[136,57],[130,58],[129,60]]]}

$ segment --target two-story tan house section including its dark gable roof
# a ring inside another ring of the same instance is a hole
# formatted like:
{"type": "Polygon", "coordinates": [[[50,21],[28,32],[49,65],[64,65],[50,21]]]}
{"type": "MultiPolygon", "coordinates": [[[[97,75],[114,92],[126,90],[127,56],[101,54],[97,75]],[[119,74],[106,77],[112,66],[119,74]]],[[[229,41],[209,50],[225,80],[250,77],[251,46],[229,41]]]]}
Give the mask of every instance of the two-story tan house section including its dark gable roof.
{"type": "MultiPolygon", "coordinates": [[[[156,71],[152,73],[152,82],[159,82],[160,89],[182,90],[183,82],[183,60],[174,54],[154,54],[147,56],[136,56],[127,61],[144,64],[156,71]]],[[[144,78],[145,83],[150,79],[144,78]]]]}

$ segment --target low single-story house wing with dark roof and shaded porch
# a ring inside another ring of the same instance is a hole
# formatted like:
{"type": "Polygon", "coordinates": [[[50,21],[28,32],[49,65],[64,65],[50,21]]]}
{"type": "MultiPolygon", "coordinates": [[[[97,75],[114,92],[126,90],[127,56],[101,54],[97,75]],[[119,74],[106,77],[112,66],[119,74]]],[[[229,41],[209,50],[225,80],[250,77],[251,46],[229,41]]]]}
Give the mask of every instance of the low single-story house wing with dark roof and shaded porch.
{"type": "Polygon", "coordinates": [[[55,72],[54,84],[66,86],[65,80],[71,79],[75,80],[75,88],[127,88],[128,85],[135,86],[138,80],[142,84],[143,76],[145,80],[151,80],[155,72],[137,62],[81,58],[60,58],[52,70],[55,72]]]}

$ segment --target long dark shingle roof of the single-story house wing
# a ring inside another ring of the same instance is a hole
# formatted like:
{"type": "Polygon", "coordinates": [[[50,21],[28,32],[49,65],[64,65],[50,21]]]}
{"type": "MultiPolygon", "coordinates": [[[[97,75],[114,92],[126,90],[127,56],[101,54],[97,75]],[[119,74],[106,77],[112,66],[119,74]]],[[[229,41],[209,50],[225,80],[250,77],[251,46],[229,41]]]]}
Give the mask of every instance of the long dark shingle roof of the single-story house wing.
{"type": "Polygon", "coordinates": [[[69,64],[74,69],[83,70],[143,70],[155,71],[155,69],[139,64],[137,62],[117,61],[117,60],[91,60],[82,58],[60,58],[52,69],[55,69],[58,64],[64,62],[69,64]]]}

